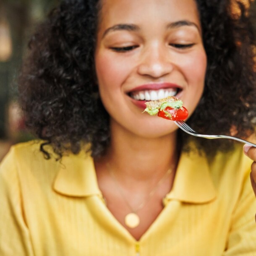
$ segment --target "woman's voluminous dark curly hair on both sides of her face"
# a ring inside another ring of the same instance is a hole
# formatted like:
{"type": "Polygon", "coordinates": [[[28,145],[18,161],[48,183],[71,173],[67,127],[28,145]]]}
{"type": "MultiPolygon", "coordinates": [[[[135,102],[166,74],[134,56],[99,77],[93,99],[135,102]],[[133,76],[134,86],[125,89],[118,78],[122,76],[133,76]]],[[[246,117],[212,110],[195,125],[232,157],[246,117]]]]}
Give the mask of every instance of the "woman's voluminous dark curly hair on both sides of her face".
{"type": "MultiPolygon", "coordinates": [[[[208,65],[203,97],[188,123],[201,133],[247,137],[256,118],[256,39],[242,1],[197,0],[208,65]]],[[[99,157],[110,143],[109,115],[98,97],[94,50],[99,0],[64,0],[37,27],[19,77],[26,125],[62,157],[90,144],[99,157]]],[[[180,145],[189,136],[178,133],[180,145]]],[[[192,138],[190,136],[190,138],[192,138]]],[[[215,153],[231,141],[196,139],[215,153]]]]}

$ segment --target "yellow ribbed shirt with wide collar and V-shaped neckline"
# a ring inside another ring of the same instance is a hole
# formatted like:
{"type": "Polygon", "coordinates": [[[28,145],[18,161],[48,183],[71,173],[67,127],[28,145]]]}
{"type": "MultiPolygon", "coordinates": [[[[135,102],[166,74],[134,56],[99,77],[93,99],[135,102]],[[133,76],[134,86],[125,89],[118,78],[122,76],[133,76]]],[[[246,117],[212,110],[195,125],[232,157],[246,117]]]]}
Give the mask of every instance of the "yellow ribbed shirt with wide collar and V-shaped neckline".
{"type": "Polygon", "coordinates": [[[0,256],[256,256],[256,199],[242,146],[182,153],[165,208],[139,241],[104,204],[84,152],[45,160],[13,146],[0,165],[0,256]]]}

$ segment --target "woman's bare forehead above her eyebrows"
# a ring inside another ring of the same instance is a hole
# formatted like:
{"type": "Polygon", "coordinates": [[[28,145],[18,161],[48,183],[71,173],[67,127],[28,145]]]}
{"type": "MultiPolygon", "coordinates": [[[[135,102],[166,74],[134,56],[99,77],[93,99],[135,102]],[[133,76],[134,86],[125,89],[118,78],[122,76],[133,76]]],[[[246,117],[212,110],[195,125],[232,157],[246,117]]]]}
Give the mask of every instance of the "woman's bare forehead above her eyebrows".
{"type": "Polygon", "coordinates": [[[200,26],[195,0],[101,0],[100,26],[189,20],[200,26]]]}

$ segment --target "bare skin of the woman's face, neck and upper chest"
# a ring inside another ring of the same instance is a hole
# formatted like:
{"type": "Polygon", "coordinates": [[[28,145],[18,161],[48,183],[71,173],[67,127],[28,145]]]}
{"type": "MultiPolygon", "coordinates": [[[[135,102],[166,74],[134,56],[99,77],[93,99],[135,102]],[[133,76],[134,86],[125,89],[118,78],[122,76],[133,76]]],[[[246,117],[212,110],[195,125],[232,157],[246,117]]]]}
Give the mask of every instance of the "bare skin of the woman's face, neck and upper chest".
{"type": "Polygon", "coordinates": [[[95,168],[108,209],[139,240],[162,211],[162,199],[172,188],[179,157],[178,127],[170,120],[142,114],[127,92],[152,82],[178,84],[180,99],[192,114],[204,89],[206,54],[194,0],[102,2],[95,66],[100,96],[110,114],[111,144],[107,155],[95,160],[95,168]],[[167,26],[184,20],[190,25],[167,26]],[[138,29],[108,30],[116,24],[135,24],[138,29]],[[174,46],[191,43],[186,49],[174,46]],[[131,45],[139,47],[121,53],[112,49],[131,45]],[[131,210],[110,176],[107,162],[133,209],[147,201],[138,212],[141,224],[134,229],[125,226],[125,215],[131,210]],[[148,201],[149,193],[172,165],[173,172],[148,201]]]}

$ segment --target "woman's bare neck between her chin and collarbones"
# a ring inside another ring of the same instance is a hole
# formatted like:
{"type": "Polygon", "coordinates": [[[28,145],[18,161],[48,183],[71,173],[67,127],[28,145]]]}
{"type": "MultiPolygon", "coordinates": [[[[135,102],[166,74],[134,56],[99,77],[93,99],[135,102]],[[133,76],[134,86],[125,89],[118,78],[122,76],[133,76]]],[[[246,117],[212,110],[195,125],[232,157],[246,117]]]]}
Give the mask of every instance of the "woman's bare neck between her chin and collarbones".
{"type": "Polygon", "coordinates": [[[176,166],[176,133],[143,138],[120,128],[117,123],[111,124],[111,131],[114,136],[105,159],[120,180],[129,183],[159,179],[170,167],[176,166]]]}

